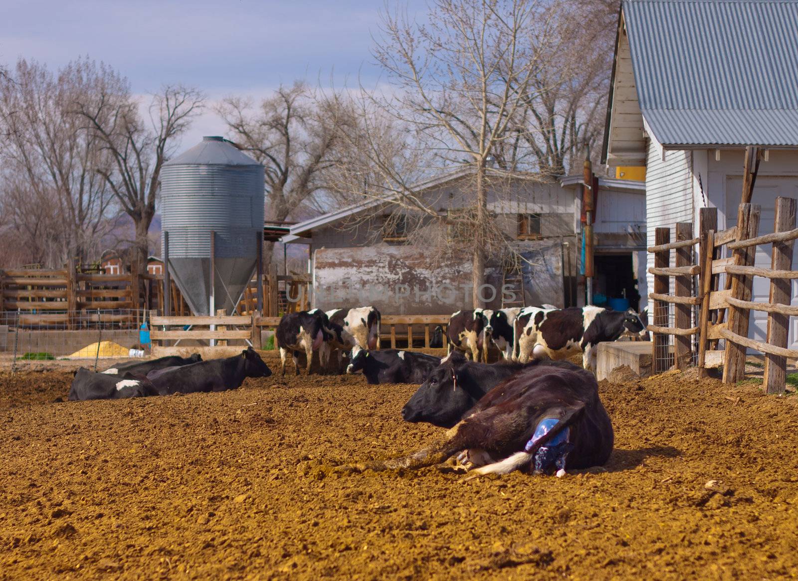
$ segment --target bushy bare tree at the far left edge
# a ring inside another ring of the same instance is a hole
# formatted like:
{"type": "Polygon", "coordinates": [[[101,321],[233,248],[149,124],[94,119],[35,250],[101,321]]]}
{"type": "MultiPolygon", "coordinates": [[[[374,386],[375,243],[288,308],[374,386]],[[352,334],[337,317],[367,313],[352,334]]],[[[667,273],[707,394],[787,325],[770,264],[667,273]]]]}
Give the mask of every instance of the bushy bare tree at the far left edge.
{"type": "Polygon", "coordinates": [[[20,241],[47,265],[68,256],[85,260],[108,230],[113,195],[98,172],[110,159],[72,111],[96,74],[89,61],[73,61],[53,75],[20,59],[13,75],[0,77],[3,206],[16,214],[12,227],[20,241]],[[42,212],[54,219],[43,220],[42,212]]]}

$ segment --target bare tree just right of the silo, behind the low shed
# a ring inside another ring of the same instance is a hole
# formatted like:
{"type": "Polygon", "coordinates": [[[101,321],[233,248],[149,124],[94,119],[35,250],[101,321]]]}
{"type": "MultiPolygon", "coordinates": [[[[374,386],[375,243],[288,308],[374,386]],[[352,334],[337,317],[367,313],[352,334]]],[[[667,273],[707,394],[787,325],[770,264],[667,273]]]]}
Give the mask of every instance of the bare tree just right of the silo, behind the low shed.
{"type": "MultiPolygon", "coordinates": [[[[257,105],[228,97],[217,112],[231,140],[266,167],[267,220],[285,221],[303,207],[326,210],[320,198],[326,172],[340,155],[342,127],[352,124],[340,93],[327,95],[296,81],[257,105]]],[[[264,253],[267,262],[271,246],[264,253]]]]}

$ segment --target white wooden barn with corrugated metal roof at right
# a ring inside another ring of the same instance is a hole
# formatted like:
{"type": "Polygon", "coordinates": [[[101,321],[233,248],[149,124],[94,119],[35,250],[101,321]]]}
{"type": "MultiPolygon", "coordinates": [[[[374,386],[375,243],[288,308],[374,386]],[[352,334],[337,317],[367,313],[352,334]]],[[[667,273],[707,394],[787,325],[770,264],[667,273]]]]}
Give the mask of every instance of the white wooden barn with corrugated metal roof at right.
{"type": "MultiPolygon", "coordinates": [[[[608,166],[646,166],[648,245],[659,226],[697,230],[701,207],[734,226],[749,146],[761,155],[751,201],[771,232],[776,197],[798,198],[798,0],[624,0],[604,139],[608,166]]],[[[767,302],[768,281],[753,292],[767,302]]],[[[765,340],[766,313],[752,317],[765,340]]]]}

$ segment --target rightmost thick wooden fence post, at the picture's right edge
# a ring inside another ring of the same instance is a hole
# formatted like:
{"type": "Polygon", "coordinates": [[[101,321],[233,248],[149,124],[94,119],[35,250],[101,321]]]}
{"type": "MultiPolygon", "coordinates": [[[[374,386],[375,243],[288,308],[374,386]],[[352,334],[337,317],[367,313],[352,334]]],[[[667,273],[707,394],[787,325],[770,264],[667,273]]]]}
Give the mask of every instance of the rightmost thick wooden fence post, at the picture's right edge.
{"type": "MultiPolygon", "coordinates": [[[[796,200],[776,198],[776,218],[773,232],[786,232],[796,227],[796,200]]],[[[773,242],[771,268],[773,270],[792,269],[792,247],[795,241],[773,242]]],[[[770,304],[790,304],[792,281],[784,278],[770,279],[770,304]]],[[[787,347],[789,316],[768,313],[768,344],[774,347],[787,347]]],[[[783,394],[787,381],[787,358],[778,355],[764,355],[764,387],[768,394],[783,394]]]]}

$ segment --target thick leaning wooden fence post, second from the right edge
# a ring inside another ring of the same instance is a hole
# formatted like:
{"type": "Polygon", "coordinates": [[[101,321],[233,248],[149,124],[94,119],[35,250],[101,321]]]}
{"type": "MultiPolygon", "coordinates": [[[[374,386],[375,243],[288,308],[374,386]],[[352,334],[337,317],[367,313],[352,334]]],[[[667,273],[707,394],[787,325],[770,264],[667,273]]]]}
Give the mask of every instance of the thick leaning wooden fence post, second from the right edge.
{"type": "MultiPolygon", "coordinates": [[[[755,238],[759,232],[760,206],[740,204],[737,211],[737,241],[755,238]]],[[[756,246],[745,246],[735,249],[732,256],[735,265],[753,266],[757,253],[756,246]]],[[[731,277],[731,295],[737,300],[751,300],[753,277],[745,274],[727,274],[731,277]]],[[[749,329],[749,310],[733,307],[729,304],[727,328],[730,332],[747,337],[749,329]]],[[[726,352],[723,360],[723,383],[737,383],[745,379],[745,347],[726,340],[726,352]]]]}

